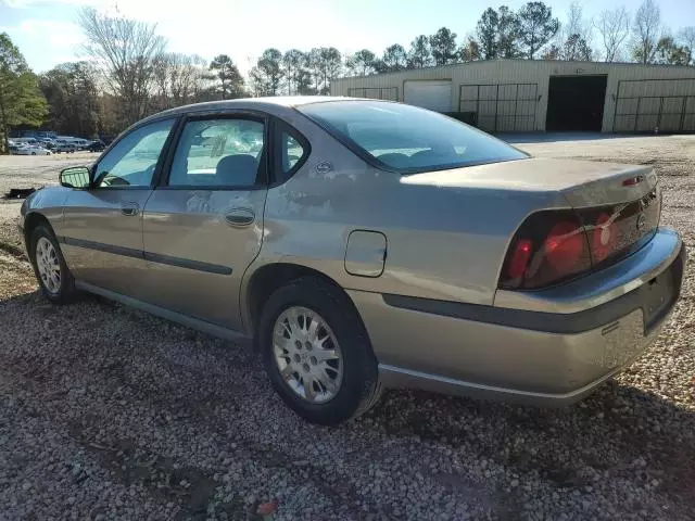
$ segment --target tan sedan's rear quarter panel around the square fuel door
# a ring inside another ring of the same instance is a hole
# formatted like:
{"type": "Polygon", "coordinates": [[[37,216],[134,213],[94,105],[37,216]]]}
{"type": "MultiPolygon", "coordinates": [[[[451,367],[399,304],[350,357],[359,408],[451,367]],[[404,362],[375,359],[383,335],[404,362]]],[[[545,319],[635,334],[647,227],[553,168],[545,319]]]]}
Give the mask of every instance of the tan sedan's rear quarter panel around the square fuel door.
{"type": "Polygon", "coordinates": [[[308,138],[312,154],[289,181],[268,191],[263,246],[248,275],[290,263],[349,290],[492,305],[504,254],[523,218],[538,208],[569,206],[557,192],[410,182],[367,165],[308,120],[289,123],[308,138]],[[317,169],[326,163],[329,171],[317,169]],[[380,277],[346,272],[353,230],[387,237],[380,277]]]}

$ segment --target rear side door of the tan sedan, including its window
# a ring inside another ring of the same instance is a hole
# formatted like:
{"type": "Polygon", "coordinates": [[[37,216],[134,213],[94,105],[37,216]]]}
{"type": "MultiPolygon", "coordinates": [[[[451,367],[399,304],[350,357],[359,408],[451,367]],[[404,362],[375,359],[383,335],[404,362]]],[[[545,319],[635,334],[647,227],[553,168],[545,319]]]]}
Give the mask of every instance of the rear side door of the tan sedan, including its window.
{"type": "Polygon", "coordinates": [[[239,288],[261,251],[267,122],[189,117],[143,214],[148,301],[240,329],[239,288]]]}

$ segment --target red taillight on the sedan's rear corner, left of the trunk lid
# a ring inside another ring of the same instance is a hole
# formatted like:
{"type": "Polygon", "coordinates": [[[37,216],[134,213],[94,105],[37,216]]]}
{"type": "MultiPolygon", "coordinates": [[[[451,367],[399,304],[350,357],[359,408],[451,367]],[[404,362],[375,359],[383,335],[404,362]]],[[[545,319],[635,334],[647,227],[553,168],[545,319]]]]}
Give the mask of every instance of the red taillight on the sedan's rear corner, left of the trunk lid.
{"type": "Polygon", "coordinates": [[[500,287],[542,288],[589,268],[586,233],[574,212],[540,212],[531,215],[514,238],[500,287]]]}

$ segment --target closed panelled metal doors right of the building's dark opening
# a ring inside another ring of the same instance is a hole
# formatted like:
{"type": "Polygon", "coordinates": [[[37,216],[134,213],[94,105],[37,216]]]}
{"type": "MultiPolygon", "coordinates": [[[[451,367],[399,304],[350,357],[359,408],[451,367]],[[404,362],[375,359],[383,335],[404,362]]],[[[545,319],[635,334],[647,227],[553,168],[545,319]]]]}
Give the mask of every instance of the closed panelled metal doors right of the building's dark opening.
{"type": "Polygon", "coordinates": [[[614,132],[695,132],[695,78],[618,82],[614,132]]]}

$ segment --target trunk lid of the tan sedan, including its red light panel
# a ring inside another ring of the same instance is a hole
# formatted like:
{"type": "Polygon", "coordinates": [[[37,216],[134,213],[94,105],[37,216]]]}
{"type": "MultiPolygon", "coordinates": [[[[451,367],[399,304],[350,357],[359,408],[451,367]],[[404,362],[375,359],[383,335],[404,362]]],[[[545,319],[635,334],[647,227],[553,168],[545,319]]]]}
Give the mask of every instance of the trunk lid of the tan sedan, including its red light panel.
{"type": "Polygon", "coordinates": [[[556,194],[555,207],[574,211],[594,268],[645,244],[661,213],[657,177],[648,166],[529,158],[417,174],[403,182],[556,194]]]}

